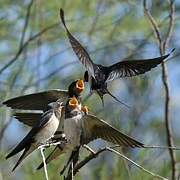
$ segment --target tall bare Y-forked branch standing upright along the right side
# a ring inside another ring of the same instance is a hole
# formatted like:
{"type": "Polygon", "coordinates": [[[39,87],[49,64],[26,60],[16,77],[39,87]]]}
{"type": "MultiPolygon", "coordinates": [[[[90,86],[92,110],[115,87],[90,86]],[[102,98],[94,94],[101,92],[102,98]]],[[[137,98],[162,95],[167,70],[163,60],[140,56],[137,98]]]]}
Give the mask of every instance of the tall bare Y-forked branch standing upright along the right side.
{"type": "MultiPolygon", "coordinates": [[[[174,22],[174,3],[173,0],[169,0],[169,7],[170,7],[170,12],[169,12],[169,26],[168,26],[168,31],[167,35],[165,37],[165,40],[162,41],[161,36],[160,36],[160,30],[156,24],[156,21],[154,18],[151,16],[151,13],[149,12],[146,4],[146,0],[143,1],[143,6],[144,6],[144,12],[146,16],[148,17],[148,20],[150,21],[153,30],[155,32],[155,36],[158,40],[159,43],[159,50],[160,54],[163,55],[165,53],[165,50],[168,46],[169,40],[171,38],[172,34],[172,29],[173,29],[173,22],[174,22]]],[[[169,82],[168,82],[168,72],[167,72],[167,67],[164,62],[162,62],[162,81],[165,89],[165,126],[166,126],[166,133],[167,133],[167,144],[170,147],[174,146],[173,142],[173,135],[172,135],[172,127],[171,127],[171,122],[170,122],[170,93],[169,93],[169,82]]],[[[176,179],[176,154],[173,151],[173,149],[169,149],[169,154],[171,158],[171,166],[172,166],[172,179],[176,179]]]]}

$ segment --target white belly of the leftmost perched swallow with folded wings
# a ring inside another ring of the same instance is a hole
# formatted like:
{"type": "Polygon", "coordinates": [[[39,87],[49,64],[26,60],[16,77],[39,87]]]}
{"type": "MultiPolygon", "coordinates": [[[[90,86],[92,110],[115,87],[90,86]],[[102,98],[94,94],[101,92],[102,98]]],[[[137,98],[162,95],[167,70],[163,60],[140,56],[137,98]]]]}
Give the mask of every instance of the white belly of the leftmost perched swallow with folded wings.
{"type": "Polygon", "coordinates": [[[59,126],[59,120],[56,118],[55,114],[51,116],[47,125],[37,133],[35,139],[37,143],[45,143],[51,137],[53,137],[59,126]]]}

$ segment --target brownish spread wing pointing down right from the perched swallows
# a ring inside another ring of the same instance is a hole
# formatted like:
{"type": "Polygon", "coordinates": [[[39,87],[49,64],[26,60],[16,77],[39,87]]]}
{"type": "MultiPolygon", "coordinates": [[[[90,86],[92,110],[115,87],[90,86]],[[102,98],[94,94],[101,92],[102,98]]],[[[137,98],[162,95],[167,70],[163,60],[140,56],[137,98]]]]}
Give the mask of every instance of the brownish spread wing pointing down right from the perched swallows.
{"type": "Polygon", "coordinates": [[[127,136],[112,127],[107,122],[93,115],[85,115],[84,119],[83,142],[88,143],[94,139],[104,139],[114,144],[127,147],[143,147],[141,142],[127,136]]]}

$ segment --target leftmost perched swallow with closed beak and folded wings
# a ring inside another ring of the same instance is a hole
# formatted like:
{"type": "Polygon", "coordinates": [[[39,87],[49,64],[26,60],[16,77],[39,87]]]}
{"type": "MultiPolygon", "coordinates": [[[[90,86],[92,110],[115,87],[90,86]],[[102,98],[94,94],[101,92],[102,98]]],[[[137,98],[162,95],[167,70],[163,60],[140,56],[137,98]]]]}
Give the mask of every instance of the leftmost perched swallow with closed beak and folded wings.
{"type": "Polygon", "coordinates": [[[12,171],[38,146],[53,137],[59,126],[62,108],[60,102],[51,103],[51,109],[43,113],[41,119],[36,122],[24,139],[6,156],[6,159],[8,159],[24,150],[12,171]]]}

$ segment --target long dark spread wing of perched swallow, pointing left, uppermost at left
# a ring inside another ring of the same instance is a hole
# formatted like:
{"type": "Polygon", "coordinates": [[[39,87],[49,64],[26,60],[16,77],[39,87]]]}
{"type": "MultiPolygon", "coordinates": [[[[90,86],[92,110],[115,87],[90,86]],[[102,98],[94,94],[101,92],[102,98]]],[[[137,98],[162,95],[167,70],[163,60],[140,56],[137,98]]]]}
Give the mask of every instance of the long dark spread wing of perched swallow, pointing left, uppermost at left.
{"type": "Polygon", "coordinates": [[[65,101],[67,97],[68,92],[66,90],[53,89],[12,98],[3,102],[3,104],[12,109],[44,110],[49,103],[61,98],[62,101],[65,101]]]}

